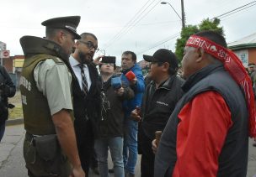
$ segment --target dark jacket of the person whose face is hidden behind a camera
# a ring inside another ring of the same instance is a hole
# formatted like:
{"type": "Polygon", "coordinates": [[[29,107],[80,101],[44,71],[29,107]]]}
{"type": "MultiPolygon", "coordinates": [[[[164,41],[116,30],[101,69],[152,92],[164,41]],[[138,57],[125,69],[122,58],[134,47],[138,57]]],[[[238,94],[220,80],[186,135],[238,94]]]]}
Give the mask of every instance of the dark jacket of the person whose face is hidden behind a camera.
{"type": "Polygon", "coordinates": [[[125,114],[122,102],[124,99],[129,100],[134,97],[134,91],[125,86],[123,96],[118,96],[111,86],[111,78],[103,84],[102,91],[106,99],[103,99],[104,108],[101,120],[98,122],[97,138],[123,137],[125,114]]]}

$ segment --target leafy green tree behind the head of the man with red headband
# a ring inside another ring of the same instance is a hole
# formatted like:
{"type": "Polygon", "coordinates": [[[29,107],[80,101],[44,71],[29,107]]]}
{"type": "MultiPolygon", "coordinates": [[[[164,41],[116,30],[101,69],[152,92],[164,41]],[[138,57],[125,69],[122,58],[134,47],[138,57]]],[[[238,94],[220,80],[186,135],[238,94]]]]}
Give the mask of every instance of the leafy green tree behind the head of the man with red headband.
{"type": "Polygon", "coordinates": [[[200,31],[212,30],[224,36],[223,27],[219,27],[221,20],[214,18],[212,21],[209,18],[204,19],[199,25],[187,25],[180,32],[180,38],[176,40],[175,54],[178,57],[179,63],[184,55],[184,46],[189,36],[200,31]]]}

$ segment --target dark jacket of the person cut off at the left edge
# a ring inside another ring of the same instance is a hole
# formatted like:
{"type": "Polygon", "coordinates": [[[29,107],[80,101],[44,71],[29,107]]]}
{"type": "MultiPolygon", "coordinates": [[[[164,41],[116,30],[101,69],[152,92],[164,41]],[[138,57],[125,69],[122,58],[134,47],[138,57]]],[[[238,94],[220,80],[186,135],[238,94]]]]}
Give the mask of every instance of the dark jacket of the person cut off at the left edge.
{"type": "Polygon", "coordinates": [[[0,124],[8,118],[8,97],[13,97],[15,92],[13,81],[5,68],[0,65],[0,124]]]}

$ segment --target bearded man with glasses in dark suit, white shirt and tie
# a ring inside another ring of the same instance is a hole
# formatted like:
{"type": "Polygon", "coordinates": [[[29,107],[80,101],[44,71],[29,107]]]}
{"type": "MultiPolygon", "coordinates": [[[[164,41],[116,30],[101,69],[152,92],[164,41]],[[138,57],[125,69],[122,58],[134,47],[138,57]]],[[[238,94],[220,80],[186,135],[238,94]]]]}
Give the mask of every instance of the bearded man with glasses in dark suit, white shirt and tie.
{"type": "Polygon", "coordinates": [[[93,127],[100,114],[101,87],[99,86],[99,74],[93,63],[93,55],[97,50],[96,36],[83,33],[81,39],[77,40],[75,52],[69,58],[73,71],[72,93],[77,148],[83,170],[87,175],[93,154],[93,127]]]}

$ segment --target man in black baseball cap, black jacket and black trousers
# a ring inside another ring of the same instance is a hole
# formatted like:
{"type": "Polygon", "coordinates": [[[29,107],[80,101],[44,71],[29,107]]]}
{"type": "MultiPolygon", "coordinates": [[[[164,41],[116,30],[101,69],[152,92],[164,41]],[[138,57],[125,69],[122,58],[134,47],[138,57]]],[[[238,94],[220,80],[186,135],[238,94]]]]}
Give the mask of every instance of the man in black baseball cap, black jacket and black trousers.
{"type": "Polygon", "coordinates": [[[152,140],[156,131],[163,131],[176,103],[183,95],[181,85],[184,81],[177,76],[178,60],[172,51],[158,49],[152,56],[143,55],[151,62],[148,84],[143,96],[141,112],[137,108],[131,116],[141,121],[138,133],[139,153],[141,154],[141,177],[154,174],[152,140]]]}

